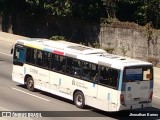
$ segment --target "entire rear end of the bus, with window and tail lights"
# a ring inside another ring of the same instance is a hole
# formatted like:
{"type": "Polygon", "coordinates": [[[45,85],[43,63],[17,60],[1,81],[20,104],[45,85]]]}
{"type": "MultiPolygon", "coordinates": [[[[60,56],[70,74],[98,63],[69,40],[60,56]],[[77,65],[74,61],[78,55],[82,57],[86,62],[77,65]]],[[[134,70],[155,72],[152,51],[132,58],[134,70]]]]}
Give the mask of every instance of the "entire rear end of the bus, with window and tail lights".
{"type": "Polygon", "coordinates": [[[125,67],[120,94],[120,110],[151,107],[153,67],[125,67]]]}

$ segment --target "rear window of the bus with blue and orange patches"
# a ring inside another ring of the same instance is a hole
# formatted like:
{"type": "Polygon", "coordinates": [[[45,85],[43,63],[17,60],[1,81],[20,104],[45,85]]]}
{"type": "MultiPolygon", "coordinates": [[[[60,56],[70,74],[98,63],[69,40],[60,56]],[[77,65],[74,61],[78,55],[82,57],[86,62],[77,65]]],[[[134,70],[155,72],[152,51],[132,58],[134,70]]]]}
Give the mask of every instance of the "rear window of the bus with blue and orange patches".
{"type": "Polygon", "coordinates": [[[153,80],[152,66],[126,67],[123,80],[124,82],[153,80]]]}

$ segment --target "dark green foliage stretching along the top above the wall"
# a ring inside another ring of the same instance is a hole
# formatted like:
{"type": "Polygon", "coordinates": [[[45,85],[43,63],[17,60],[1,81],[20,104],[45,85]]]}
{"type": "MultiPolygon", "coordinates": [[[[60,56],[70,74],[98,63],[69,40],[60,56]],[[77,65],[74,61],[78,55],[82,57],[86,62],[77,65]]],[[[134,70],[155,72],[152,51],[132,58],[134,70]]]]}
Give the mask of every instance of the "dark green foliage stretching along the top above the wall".
{"type": "Polygon", "coordinates": [[[0,0],[2,17],[15,17],[19,13],[46,20],[51,15],[96,22],[105,18],[109,24],[117,19],[139,25],[151,23],[153,28],[160,28],[160,0],[0,0]]]}

